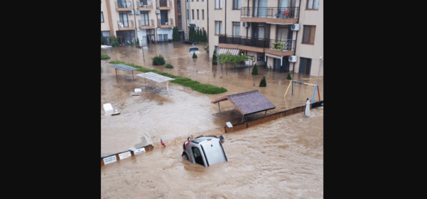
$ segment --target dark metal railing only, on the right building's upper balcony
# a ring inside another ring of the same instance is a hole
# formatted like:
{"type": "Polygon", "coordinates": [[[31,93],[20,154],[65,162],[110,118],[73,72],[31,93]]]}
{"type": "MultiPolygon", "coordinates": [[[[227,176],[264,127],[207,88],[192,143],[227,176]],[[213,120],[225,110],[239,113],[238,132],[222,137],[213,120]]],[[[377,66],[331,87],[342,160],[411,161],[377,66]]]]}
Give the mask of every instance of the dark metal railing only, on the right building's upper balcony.
{"type": "Polygon", "coordinates": [[[299,7],[242,7],[241,17],[298,19],[299,7]]]}

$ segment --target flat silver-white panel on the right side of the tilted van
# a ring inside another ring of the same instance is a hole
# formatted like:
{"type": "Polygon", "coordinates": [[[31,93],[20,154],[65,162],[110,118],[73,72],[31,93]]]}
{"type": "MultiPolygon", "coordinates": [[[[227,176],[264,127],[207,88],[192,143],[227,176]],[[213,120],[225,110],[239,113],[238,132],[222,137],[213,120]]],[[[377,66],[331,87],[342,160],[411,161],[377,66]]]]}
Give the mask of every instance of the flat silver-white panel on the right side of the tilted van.
{"type": "Polygon", "coordinates": [[[211,141],[204,141],[200,143],[205,153],[208,165],[214,165],[215,163],[222,163],[227,161],[224,149],[218,139],[212,139],[211,141]]]}

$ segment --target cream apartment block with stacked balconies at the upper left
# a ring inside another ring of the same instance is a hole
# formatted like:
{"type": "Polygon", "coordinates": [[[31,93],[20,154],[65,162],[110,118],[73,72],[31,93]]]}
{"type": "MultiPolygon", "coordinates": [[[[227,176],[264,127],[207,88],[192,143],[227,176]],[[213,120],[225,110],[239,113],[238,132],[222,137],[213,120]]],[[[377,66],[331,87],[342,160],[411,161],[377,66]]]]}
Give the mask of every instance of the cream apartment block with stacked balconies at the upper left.
{"type": "Polygon", "coordinates": [[[174,18],[173,0],[101,0],[101,34],[116,36],[121,45],[172,40],[174,18]]]}

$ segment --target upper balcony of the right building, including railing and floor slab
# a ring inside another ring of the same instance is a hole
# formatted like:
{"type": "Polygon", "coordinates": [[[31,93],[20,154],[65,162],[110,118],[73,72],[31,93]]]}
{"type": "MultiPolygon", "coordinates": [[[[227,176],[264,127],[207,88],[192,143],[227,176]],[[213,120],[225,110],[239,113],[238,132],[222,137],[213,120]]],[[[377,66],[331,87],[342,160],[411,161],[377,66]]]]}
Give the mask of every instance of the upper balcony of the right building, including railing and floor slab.
{"type": "Polygon", "coordinates": [[[240,21],[255,23],[297,23],[298,7],[242,7],[240,21]]]}

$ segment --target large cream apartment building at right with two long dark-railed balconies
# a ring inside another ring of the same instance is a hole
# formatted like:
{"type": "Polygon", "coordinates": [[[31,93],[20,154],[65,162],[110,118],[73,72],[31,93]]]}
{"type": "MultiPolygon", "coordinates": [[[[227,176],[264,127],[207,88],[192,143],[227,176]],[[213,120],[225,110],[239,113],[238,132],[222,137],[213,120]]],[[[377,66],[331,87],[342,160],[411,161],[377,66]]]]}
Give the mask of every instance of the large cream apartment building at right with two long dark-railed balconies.
{"type": "Polygon", "coordinates": [[[232,51],[251,56],[249,65],[323,76],[323,1],[211,0],[208,8],[209,49],[217,54],[232,51]]]}

